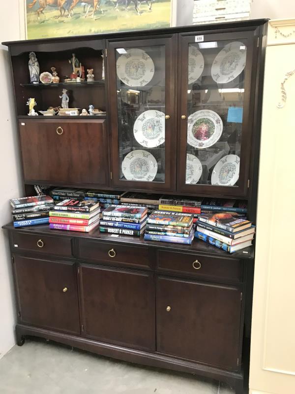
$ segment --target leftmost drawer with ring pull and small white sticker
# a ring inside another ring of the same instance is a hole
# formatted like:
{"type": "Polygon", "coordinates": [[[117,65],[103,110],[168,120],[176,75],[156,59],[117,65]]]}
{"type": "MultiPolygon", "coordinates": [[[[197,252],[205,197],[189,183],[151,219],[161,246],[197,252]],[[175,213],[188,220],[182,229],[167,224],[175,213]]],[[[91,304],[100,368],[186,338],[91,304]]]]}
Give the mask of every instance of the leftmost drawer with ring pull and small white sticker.
{"type": "Polygon", "coordinates": [[[29,250],[57,256],[72,256],[71,238],[50,235],[22,234],[12,231],[12,249],[29,250]]]}

